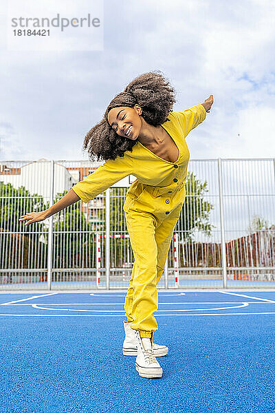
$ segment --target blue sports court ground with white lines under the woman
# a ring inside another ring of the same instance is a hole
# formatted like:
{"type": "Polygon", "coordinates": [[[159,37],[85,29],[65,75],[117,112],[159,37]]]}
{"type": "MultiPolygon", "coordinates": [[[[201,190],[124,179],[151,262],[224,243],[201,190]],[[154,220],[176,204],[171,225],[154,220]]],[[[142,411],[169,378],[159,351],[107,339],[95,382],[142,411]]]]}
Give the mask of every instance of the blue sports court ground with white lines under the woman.
{"type": "Polygon", "coordinates": [[[0,412],[275,412],[275,292],[159,292],[162,379],[122,355],[125,292],[0,294],[0,412]]]}

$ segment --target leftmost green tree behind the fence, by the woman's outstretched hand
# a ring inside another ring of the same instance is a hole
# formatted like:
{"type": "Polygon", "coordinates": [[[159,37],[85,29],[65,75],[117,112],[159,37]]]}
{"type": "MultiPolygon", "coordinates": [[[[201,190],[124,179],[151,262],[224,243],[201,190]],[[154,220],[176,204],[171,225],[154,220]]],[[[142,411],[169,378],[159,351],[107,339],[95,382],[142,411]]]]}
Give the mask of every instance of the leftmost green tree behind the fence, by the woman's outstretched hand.
{"type": "MultiPolygon", "coordinates": [[[[19,221],[21,215],[32,211],[43,211],[43,197],[21,186],[18,189],[12,184],[0,182],[0,262],[1,268],[41,268],[43,257],[47,256],[47,248],[41,242],[43,222],[25,225],[19,221]]],[[[28,279],[36,281],[37,274],[1,273],[1,282],[11,283],[13,280],[28,279]]],[[[15,281],[16,282],[16,281],[15,281]]]]}

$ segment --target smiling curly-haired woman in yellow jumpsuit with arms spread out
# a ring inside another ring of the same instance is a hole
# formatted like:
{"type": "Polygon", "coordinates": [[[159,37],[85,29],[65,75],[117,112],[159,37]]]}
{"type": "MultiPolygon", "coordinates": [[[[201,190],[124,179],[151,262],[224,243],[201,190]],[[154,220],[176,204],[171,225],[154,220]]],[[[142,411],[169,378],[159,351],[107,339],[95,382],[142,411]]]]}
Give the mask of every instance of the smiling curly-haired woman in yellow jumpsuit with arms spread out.
{"type": "Polygon", "coordinates": [[[50,209],[27,213],[26,224],[49,218],[65,207],[87,203],[132,174],[124,213],[135,257],[124,310],[124,355],[135,355],[141,377],[162,377],[156,357],[168,352],[153,343],[158,307],[157,283],[184,204],[190,153],[186,136],[206,118],[213,96],[184,112],[173,112],[175,90],[159,71],[137,76],[106,109],[100,123],[85,136],[83,148],[104,165],[78,182],[50,209]]]}

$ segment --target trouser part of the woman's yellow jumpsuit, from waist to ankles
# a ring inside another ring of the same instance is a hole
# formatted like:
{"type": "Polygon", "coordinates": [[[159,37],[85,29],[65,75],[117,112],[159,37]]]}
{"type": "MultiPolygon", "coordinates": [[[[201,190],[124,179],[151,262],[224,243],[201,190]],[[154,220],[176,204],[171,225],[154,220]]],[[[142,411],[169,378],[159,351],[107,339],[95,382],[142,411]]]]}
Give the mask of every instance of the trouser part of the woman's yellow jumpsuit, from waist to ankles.
{"type": "Polygon", "coordinates": [[[139,330],[141,337],[151,337],[151,333],[157,330],[153,315],[158,307],[157,283],[164,271],[173,231],[184,202],[182,193],[181,198],[170,198],[170,208],[173,210],[166,215],[168,207],[164,202],[168,195],[164,194],[155,198],[157,204],[154,213],[151,213],[143,210],[150,197],[151,194],[142,191],[130,202],[131,207],[124,209],[135,257],[124,310],[128,321],[131,321],[131,328],[139,330]]]}

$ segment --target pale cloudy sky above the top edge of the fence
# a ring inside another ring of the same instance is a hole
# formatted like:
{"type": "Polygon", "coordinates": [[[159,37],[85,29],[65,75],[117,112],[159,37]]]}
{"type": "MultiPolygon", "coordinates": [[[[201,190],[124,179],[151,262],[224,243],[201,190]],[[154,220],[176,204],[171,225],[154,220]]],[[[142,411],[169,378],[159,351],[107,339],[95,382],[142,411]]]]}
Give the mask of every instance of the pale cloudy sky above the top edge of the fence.
{"type": "MultiPolygon", "coordinates": [[[[93,5],[74,3],[79,14],[93,5]]],[[[0,161],[88,160],[87,131],[151,70],[175,87],[173,110],[214,96],[186,138],[190,159],[275,156],[274,1],[105,0],[103,8],[102,50],[14,51],[1,36],[0,161]]],[[[2,28],[7,16],[4,8],[2,28]]]]}

